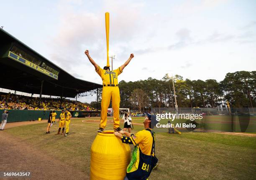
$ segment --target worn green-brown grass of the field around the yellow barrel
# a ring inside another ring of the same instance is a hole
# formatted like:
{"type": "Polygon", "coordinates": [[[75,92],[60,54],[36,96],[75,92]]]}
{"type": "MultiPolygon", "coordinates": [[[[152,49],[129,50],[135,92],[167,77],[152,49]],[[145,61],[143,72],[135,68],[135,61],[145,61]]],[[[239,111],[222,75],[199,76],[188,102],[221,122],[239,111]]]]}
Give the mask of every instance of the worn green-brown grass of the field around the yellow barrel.
{"type": "MultiPolygon", "coordinates": [[[[84,118],[71,120],[68,137],[55,135],[58,124],[51,127],[51,134],[45,134],[46,123],[10,128],[5,132],[40,148],[41,153],[50,153],[63,163],[90,173],[90,147],[97,135],[98,123],[82,120],[84,118]]],[[[133,118],[134,123],[142,124],[142,121],[143,117],[133,118]]],[[[112,123],[108,123],[108,126],[107,129],[111,130],[112,123]]],[[[132,133],[142,129],[142,125],[134,125],[132,133]]],[[[151,173],[149,180],[256,179],[254,137],[215,133],[157,133],[156,156],[159,168],[151,173]]]]}

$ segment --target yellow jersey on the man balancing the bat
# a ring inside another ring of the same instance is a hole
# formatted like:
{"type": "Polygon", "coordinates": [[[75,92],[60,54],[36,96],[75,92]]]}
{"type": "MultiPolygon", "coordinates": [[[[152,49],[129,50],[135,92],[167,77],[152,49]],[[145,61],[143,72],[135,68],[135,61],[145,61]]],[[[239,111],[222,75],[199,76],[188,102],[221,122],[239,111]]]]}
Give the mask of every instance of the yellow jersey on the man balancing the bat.
{"type": "Polygon", "coordinates": [[[103,85],[118,85],[118,75],[123,72],[121,71],[120,67],[118,67],[116,70],[108,71],[102,69],[100,66],[98,66],[95,71],[98,73],[98,75],[100,75],[103,85]]]}

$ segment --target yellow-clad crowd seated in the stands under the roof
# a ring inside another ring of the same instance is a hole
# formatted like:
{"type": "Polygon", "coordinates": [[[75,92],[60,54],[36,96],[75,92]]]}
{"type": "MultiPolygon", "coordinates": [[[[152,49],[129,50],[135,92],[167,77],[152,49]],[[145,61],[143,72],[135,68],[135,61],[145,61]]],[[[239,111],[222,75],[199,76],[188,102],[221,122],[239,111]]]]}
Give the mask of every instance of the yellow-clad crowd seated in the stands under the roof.
{"type": "Polygon", "coordinates": [[[60,98],[41,98],[41,106],[39,106],[39,97],[28,97],[23,95],[15,95],[9,93],[0,93],[0,109],[6,110],[61,110],[62,108],[77,111],[95,111],[79,101],[60,98]]]}

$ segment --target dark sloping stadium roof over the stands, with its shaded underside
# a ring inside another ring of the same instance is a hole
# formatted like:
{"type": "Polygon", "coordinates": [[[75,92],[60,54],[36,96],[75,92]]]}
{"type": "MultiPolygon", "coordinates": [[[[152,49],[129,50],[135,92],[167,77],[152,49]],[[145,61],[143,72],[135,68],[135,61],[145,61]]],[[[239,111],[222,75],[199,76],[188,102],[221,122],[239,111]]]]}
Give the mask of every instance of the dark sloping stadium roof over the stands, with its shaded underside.
{"type": "Polygon", "coordinates": [[[75,97],[102,87],[80,80],[0,29],[0,87],[31,94],[75,97]]]}

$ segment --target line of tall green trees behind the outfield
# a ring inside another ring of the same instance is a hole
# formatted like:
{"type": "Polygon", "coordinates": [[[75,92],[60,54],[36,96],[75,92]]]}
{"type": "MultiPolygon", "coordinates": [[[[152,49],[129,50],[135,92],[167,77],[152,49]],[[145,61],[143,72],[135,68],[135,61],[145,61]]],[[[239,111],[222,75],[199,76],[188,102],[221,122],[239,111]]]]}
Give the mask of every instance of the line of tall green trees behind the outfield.
{"type": "MultiPolygon", "coordinates": [[[[179,107],[212,107],[222,103],[230,107],[256,106],[256,71],[227,73],[224,80],[189,80],[180,75],[167,74],[157,80],[119,82],[120,107],[132,110],[150,110],[151,107],[175,107],[174,88],[179,107]],[[172,80],[174,83],[172,83],[172,80]]],[[[98,108],[100,108],[100,94],[98,108]]],[[[96,102],[91,102],[96,107],[96,102]]]]}

